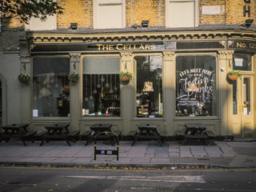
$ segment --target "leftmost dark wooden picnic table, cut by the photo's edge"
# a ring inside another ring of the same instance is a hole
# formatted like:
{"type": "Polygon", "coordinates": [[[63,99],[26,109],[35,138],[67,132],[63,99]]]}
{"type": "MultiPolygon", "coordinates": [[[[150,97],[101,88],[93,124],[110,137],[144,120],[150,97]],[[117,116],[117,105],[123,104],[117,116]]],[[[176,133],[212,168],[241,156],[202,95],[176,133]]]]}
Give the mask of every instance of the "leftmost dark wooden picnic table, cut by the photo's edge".
{"type": "Polygon", "coordinates": [[[2,126],[3,133],[0,137],[0,143],[2,139],[6,139],[6,142],[9,142],[10,138],[19,138],[21,139],[24,146],[26,146],[26,139],[30,138],[32,142],[34,142],[32,136],[36,133],[36,131],[28,131],[27,127],[30,124],[28,123],[18,123],[18,124],[10,124],[6,126],[2,126]]]}

